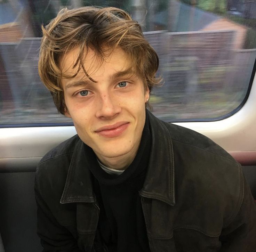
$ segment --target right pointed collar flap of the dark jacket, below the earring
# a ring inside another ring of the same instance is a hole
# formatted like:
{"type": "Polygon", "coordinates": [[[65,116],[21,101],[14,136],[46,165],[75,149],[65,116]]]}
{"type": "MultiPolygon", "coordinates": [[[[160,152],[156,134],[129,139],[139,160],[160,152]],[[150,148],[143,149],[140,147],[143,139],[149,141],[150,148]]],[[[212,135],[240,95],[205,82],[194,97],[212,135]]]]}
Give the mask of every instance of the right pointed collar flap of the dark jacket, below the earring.
{"type": "Polygon", "coordinates": [[[149,167],[140,195],[175,205],[175,170],[173,144],[168,125],[149,111],[151,153],[149,167]]]}

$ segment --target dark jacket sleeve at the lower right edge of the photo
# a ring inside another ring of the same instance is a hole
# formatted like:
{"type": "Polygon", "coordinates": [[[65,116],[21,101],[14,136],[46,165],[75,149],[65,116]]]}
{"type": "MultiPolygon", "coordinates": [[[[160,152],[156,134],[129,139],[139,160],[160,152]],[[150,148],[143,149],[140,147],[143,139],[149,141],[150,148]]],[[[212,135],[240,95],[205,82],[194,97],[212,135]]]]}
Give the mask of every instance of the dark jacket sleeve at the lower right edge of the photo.
{"type": "Polygon", "coordinates": [[[233,221],[222,230],[221,252],[256,251],[256,204],[243,175],[242,204],[233,221]]]}

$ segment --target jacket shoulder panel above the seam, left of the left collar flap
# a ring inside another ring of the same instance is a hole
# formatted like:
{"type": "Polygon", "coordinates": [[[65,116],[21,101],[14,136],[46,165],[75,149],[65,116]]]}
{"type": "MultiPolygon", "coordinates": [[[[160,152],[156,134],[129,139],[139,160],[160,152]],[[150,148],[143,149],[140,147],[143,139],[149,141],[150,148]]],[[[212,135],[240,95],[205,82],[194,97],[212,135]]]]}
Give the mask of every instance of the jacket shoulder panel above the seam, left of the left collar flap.
{"type": "Polygon", "coordinates": [[[47,152],[40,160],[39,165],[44,162],[53,160],[54,158],[58,158],[65,155],[72,155],[75,146],[77,145],[79,140],[79,136],[74,135],[73,137],[63,141],[62,143],[51,149],[49,152],[47,152]]]}

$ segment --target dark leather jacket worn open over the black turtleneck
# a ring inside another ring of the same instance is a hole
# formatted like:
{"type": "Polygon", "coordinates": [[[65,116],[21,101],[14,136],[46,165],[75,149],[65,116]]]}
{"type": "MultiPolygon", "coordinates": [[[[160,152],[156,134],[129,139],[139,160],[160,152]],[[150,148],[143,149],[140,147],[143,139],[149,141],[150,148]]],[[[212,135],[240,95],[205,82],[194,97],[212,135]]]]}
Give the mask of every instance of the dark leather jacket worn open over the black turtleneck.
{"type": "MultiPolygon", "coordinates": [[[[256,206],[240,164],[207,137],[147,113],[152,146],[139,194],[151,251],[256,251],[256,206]]],[[[100,210],[84,155],[74,136],[38,165],[43,251],[106,251],[94,244],[100,210]]]]}

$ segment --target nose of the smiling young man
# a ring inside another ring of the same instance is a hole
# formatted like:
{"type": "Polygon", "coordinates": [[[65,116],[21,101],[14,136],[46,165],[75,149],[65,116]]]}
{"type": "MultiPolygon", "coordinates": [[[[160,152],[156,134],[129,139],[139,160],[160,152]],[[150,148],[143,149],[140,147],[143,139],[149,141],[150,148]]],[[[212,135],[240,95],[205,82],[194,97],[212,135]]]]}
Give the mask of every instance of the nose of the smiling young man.
{"type": "Polygon", "coordinates": [[[112,119],[121,112],[121,106],[118,101],[118,97],[115,97],[113,94],[104,92],[104,94],[99,95],[97,101],[97,111],[96,117],[101,119],[112,119]]]}

